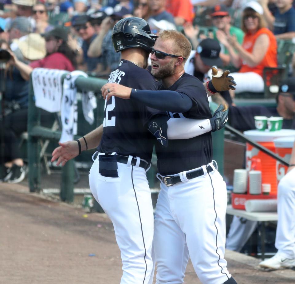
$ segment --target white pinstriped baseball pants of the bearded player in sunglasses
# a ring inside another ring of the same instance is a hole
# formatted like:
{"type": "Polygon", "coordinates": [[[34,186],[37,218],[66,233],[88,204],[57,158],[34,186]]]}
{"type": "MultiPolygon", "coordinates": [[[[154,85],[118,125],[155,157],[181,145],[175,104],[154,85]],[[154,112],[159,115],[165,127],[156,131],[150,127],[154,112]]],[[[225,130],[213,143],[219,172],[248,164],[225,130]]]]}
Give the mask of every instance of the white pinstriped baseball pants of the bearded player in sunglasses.
{"type": "Polygon", "coordinates": [[[183,283],[189,257],[204,284],[231,277],[224,259],[226,204],[217,170],[171,187],[161,183],[154,229],[157,284],[183,283]]]}

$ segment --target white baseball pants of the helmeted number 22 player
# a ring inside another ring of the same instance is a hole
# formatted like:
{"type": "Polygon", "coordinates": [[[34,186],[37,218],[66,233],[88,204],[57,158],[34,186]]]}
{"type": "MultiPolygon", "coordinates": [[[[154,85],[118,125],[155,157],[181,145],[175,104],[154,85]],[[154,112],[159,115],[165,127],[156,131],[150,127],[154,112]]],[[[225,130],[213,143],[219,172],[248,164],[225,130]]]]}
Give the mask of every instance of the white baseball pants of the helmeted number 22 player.
{"type": "Polygon", "coordinates": [[[121,284],[147,284],[152,277],[151,247],[153,208],[151,191],[143,168],[118,163],[118,178],[98,171],[98,158],[90,173],[91,192],[111,219],[121,251],[121,284]]]}

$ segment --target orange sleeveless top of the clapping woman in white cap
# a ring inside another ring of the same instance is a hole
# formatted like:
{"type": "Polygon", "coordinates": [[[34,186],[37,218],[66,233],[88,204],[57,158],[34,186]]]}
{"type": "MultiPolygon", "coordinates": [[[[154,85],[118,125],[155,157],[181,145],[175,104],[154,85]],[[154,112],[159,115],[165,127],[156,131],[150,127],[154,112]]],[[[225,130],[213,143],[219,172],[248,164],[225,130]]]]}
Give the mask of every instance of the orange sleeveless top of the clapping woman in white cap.
{"type": "Polygon", "coordinates": [[[269,37],[269,46],[264,58],[255,67],[250,67],[243,62],[239,72],[255,72],[262,76],[264,67],[277,67],[277,41],[270,30],[262,28],[256,34],[245,34],[242,46],[248,52],[252,53],[255,41],[261,34],[267,34],[269,37]]]}

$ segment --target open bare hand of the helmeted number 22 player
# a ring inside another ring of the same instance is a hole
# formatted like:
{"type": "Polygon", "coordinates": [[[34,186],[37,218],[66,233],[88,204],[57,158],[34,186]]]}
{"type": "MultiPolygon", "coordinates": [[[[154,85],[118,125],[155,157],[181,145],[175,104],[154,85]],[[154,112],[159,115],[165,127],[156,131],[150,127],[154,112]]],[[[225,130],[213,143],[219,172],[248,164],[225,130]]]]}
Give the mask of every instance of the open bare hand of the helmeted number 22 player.
{"type": "Polygon", "coordinates": [[[65,163],[79,155],[79,147],[77,141],[67,141],[65,143],[58,142],[59,147],[52,152],[51,162],[57,160],[57,166],[64,166],[65,163]]]}

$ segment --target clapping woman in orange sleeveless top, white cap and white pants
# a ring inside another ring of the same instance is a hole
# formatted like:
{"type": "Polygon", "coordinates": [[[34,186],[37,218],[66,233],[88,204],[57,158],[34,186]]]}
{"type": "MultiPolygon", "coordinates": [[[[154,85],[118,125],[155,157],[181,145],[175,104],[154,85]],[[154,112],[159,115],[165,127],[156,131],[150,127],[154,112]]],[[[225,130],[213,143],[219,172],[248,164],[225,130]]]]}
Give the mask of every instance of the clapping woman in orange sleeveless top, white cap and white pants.
{"type": "Polygon", "coordinates": [[[231,63],[240,68],[232,73],[237,87],[235,93],[264,91],[264,67],[277,67],[277,41],[274,34],[266,28],[262,16],[263,8],[255,1],[246,4],[242,14],[242,30],[245,37],[242,45],[236,36],[219,34],[218,40],[228,49],[231,63]]]}

